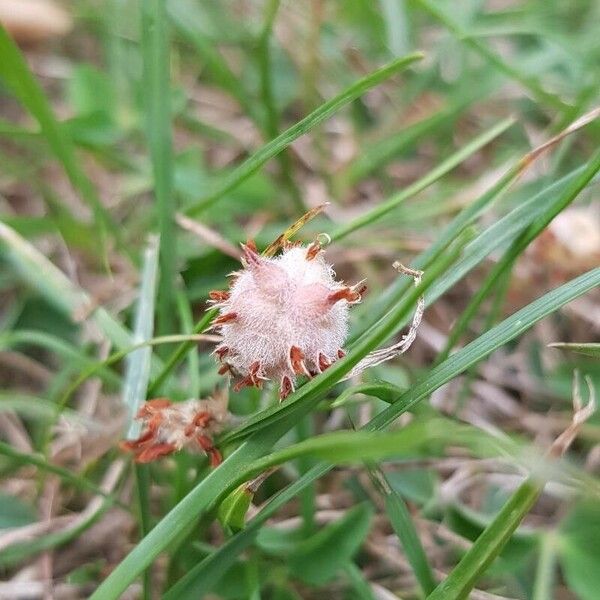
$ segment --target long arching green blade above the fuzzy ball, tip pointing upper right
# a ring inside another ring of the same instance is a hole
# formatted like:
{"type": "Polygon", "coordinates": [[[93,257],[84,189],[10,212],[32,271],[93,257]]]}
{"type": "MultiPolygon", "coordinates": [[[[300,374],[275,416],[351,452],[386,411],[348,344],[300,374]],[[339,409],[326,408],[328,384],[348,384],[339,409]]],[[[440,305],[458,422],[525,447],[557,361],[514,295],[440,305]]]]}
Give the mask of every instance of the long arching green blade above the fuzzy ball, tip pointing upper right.
{"type": "Polygon", "coordinates": [[[194,215],[212,206],[222,196],[235,189],[240,183],[245,181],[250,175],[258,171],[268,160],[279,154],[287,148],[295,139],[310,131],[313,127],[335,114],[346,104],[356,100],[372,87],[385,81],[392,75],[406,69],[411,64],[423,58],[422,53],[409,54],[403,58],[392,61],[391,63],[373,71],[366,77],[358,80],[354,85],[344,90],[341,94],[325,102],[304,119],[298,121],[295,125],[278,135],[274,140],[265,144],[257,150],[252,156],[236,167],[231,173],[223,178],[221,183],[207,196],[188,207],[187,213],[194,215]]]}

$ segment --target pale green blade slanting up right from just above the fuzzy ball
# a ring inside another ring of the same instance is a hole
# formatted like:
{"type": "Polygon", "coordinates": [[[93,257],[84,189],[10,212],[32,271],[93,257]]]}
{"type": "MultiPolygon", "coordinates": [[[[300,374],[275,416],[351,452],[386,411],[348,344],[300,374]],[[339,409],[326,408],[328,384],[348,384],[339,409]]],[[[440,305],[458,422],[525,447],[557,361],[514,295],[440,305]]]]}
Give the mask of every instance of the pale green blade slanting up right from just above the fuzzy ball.
{"type": "Polygon", "coordinates": [[[341,225],[331,233],[331,239],[333,241],[340,240],[346,237],[348,234],[370,225],[374,221],[377,221],[390,211],[394,210],[402,202],[415,196],[419,192],[429,187],[432,183],[435,183],[440,177],[443,177],[452,169],[464,162],[469,156],[480,150],[483,146],[497,138],[499,135],[504,133],[509,127],[514,125],[515,120],[512,118],[504,119],[500,123],[497,123],[481,135],[476,137],[474,140],[469,142],[464,148],[461,148],[458,152],[455,152],[449,156],[446,160],[442,161],[437,167],[429,171],[426,175],[409,185],[406,189],[402,190],[398,194],[393,195],[386,201],[378,204],[374,209],[353,219],[349,223],[341,225]]]}

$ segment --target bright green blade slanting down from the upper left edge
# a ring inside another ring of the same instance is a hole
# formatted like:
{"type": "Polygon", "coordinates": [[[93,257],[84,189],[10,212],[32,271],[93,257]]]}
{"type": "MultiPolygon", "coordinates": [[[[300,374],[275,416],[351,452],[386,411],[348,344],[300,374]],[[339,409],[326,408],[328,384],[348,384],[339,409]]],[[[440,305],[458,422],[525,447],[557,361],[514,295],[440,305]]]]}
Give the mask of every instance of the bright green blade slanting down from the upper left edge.
{"type": "Polygon", "coordinates": [[[0,25],[0,56],[2,56],[0,79],[35,117],[42,135],[62,164],[71,184],[92,209],[100,234],[100,247],[106,262],[106,238],[111,234],[120,241],[120,230],[100,202],[94,185],[79,163],[71,138],[56,120],[42,87],[31,72],[23,54],[2,25],[0,25]]]}

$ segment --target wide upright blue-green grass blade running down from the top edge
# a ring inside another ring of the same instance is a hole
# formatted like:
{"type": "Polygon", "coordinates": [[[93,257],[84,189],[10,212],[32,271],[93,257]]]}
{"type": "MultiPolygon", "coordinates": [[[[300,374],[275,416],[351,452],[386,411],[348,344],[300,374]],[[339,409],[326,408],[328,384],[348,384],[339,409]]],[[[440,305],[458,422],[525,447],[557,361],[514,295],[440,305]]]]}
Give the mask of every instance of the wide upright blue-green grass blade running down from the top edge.
{"type": "Polygon", "coordinates": [[[169,33],[165,0],[142,2],[143,81],[146,90],[146,138],[152,157],[154,196],[160,232],[158,332],[173,331],[175,284],[175,197],[169,79],[169,33]]]}

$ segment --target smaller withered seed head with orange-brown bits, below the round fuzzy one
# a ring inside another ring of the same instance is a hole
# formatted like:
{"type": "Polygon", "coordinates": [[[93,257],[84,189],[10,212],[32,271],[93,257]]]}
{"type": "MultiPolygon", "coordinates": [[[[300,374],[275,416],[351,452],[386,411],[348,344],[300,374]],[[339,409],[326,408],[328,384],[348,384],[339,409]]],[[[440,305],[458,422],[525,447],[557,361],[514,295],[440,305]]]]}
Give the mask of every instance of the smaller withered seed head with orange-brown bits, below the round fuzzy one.
{"type": "Polygon", "coordinates": [[[220,431],[227,415],[223,398],[185,402],[155,398],[146,402],[137,414],[136,418],[143,423],[140,437],[122,442],[121,447],[132,451],[139,463],[151,462],[182,448],[201,450],[215,467],[221,463],[221,454],[214,447],[212,436],[220,431]]]}

